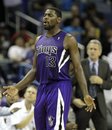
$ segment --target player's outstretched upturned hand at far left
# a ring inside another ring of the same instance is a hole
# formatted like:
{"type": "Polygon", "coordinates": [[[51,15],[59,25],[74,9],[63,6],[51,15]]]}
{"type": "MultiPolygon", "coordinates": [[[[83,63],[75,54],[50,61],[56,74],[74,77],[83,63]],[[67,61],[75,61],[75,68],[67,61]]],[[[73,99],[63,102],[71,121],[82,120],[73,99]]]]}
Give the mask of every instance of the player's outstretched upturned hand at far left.
{"type": "Polygon", "coordinates": [[[3,92],[3,95],[5,96],[15,96],[18,93],[18,89],[15,86],[4,86],[3,89],[5,91],[3,92]]]}

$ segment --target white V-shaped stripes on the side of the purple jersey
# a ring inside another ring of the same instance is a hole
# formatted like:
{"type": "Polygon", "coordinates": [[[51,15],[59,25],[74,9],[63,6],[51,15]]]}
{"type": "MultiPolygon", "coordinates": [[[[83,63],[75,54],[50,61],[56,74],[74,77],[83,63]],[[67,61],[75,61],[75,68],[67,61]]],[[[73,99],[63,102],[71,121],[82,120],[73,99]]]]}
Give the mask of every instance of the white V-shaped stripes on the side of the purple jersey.
{"type": "Polygon", "coordinates": [[[59,63],[58,63],[58,68],[59,68],[59,71],[58,71],[58,72],[60,72],[61,68],[65,65],[65,63],[66,63],[66,62],[69,60],[69,58],[70,58],[70,56],[67,56],[66,59],[63,60],[65,53],[66,53],[66,50],[64,49],[64,50],[62,51],[61,58],[60,58],[59,63]],[[62,62],[62,61],[63,61],[63,62],[62,62]]]}

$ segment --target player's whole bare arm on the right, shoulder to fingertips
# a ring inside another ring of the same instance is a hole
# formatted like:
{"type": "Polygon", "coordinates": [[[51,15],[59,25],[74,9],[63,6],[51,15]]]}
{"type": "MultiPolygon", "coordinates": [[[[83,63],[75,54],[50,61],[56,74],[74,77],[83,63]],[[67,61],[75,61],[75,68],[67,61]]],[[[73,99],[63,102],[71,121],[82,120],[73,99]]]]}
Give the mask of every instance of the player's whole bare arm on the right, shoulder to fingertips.
{"type": "Polygon", "coordinates": [[[78,45],[75,38],[72,35],[68,34],[65,37],[64,48],[68,50],[70,53],[75,77],[78,80],[78,83],[80,85],[81,91],[84,96],[84,101],[87,106],[90,106],[89,108],[87,108],[87,111],[92,111],[92,109],[95,108],[95,104],[93,99],[88,95],[87,83],[80,62],[78,45]]]}

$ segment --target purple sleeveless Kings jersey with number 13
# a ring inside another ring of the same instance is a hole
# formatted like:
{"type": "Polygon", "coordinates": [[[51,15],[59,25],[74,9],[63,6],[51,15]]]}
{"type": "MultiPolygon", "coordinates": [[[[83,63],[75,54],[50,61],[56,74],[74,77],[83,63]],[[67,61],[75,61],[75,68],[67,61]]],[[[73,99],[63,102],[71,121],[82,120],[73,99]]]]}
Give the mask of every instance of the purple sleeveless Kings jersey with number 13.
{"type": "Polygon", "coordinates": [[[60,31],[53,37],[42,35],[36,43],[37,74],[41,84],[69,78],[69,53],[64,49],[66,33],[60,31]]]}

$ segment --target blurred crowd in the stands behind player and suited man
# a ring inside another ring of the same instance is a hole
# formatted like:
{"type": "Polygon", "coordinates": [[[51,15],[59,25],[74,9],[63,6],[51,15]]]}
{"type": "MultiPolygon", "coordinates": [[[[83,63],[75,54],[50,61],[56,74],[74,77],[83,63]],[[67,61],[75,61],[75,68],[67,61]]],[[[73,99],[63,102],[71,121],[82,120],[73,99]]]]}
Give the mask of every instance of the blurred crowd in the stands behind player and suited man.
{"type": "Polygon", "coordinates": [[[42,15],[51,6],[62,10],[61,28],[76,37],[81,58],[88,41],[99,39],[101,57],[112,69],[111,0],[0,0],[1,86],[18,82],[31,68],[35,37],[44,32],[42,15]]]}

